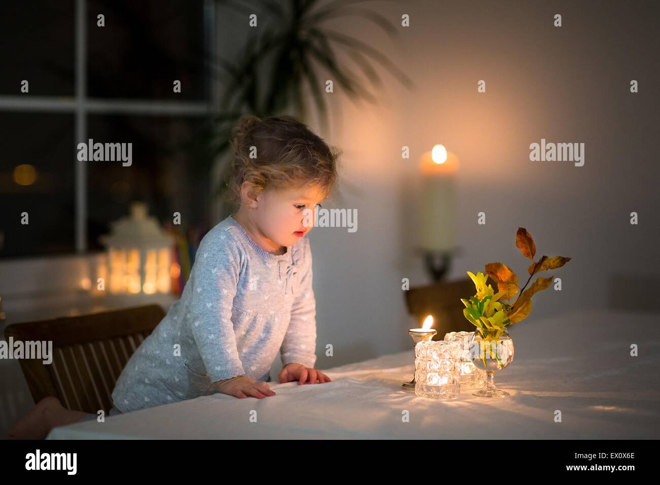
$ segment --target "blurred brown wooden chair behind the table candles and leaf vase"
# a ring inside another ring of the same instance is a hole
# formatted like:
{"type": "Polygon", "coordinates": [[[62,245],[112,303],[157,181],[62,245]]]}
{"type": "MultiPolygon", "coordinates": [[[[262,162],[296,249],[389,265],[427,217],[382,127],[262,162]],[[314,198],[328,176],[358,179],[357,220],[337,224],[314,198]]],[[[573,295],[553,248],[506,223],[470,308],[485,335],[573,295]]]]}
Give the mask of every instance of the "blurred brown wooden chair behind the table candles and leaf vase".
{"type": "MultiPolygon", "coordinates": [[[[486,284],[497,288],[496,282],[490,277],[486,284]]],[[[418,319],[419,327],[428,315],[433,315],[433,327],[438,331],[433,340],[443,340],[447,332],[475,331],[463,316],[465,305],[461,298],[469,298],[475,294],[474,282],[466,278],[456,281],[441,281],[428,286],[416,286],[404,292],[408,313],[418,319]]]]}

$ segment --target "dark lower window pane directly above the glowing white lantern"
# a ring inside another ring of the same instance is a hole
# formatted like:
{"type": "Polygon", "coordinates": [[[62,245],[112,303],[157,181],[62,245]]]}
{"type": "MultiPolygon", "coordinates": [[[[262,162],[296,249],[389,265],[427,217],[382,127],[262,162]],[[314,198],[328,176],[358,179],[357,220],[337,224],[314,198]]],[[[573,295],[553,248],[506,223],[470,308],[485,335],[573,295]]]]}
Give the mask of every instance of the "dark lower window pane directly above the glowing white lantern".
{"type": "Polygon", "coordinates": [[[181,228],[205,224],[209,172],[201,133],[205,121],[190,117],[90,116],[94,143],[132,143],[131,165],[88,162],[88,247],[102,249],[98,236],[127,216],[131,201],[147,204],[161,226],[181,212],[181,228]]]}

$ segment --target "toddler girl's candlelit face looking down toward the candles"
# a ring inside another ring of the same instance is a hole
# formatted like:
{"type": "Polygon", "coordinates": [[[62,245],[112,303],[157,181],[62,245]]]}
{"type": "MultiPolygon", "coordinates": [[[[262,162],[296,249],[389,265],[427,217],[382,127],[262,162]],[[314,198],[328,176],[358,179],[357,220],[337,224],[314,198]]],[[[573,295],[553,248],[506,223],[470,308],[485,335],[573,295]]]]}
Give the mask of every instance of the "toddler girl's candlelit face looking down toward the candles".
{"type": "Polygon", "coordinates": [[[268,251],[280,251],[282,246],[294,245],[314,227],[314,207],[323,199],[325,193],[318,185],[271,189],[263,191],[256,199],[248,196],[248,224],[255,226],[252,228],[257,233],[255,236],[262,238],[261,241],[255,239],[255,242],[262,247],[266,245],[268,249],[264,249],[268,251]]]}

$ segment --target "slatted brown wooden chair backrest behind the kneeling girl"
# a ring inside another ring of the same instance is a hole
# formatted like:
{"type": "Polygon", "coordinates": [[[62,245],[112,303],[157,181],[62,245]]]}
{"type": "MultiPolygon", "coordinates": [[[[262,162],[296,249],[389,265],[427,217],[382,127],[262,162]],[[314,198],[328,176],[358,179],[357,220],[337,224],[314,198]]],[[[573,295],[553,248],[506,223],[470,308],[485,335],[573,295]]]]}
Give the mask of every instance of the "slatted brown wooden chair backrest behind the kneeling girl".
{"type": "Polygon", "coordinates": [[[5,337],[53,342],[51,364],[19,361],[35,403],[55,396],[69,409],[107,413],[121,370],[164,316],[154,304],[14,323],[5,328],[5,337]]]}

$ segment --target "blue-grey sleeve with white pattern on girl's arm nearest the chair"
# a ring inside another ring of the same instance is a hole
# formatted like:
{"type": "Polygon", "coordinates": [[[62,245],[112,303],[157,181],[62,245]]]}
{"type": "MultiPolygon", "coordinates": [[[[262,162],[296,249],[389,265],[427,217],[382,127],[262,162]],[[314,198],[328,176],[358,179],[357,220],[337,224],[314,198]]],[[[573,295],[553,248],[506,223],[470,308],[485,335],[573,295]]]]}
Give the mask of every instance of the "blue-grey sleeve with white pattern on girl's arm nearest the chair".
{"type": "Polygon", "coordinates": [[[203,238],[195,256],[193,298],[186,323],[211,382],[245,373],[231,319],[240,267],[241,254],[234,243],[203,238]]]}

